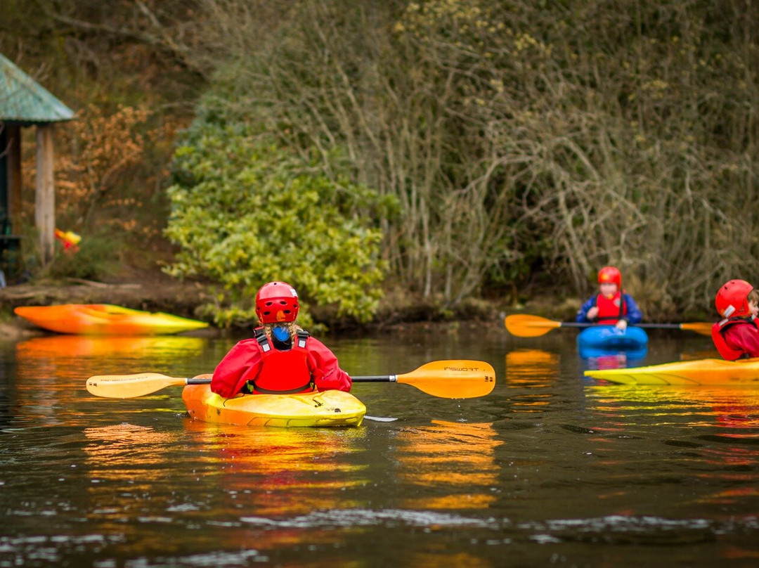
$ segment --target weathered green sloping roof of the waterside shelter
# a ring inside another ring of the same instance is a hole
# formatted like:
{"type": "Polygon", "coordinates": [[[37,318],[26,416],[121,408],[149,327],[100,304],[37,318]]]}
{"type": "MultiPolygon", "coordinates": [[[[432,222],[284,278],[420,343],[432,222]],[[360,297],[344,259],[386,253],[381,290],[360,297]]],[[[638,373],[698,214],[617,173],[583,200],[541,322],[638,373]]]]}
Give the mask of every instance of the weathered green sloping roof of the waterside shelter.
{"type": "Polygon", "coordinates": [[[34,124],[74,118],[74,111],[0,53],[0,121],[34,124]]]}

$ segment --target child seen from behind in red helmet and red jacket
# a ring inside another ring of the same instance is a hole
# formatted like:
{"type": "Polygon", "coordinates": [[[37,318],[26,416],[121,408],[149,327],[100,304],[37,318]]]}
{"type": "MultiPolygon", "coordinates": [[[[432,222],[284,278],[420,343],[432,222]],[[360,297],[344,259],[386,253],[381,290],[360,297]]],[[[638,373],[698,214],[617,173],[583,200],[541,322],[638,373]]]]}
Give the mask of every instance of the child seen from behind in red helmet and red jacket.
{"type": "Polygon", "coordinates": [[[261,327],[238,342],[216,366],[214,393],[293,394],[313,390],[351,390],[351,377],[322,342],[295,324],[298,292],[285,282],[269,282],[256,295],[261,327]]]}

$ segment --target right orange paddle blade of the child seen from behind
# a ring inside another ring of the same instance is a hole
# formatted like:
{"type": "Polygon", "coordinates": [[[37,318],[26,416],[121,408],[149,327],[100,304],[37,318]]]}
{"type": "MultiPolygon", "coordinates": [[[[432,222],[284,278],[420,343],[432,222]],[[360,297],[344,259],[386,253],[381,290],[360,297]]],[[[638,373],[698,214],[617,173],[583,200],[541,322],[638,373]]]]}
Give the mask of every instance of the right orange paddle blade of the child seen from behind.
{"type": "Polygon", "coordinates": [[[411,373],[399,374],[396,380],[432,396],[472,399],[490,394],[496,386],[496,371],[484,361],[454,359],[423,364],[411,373]]]}

